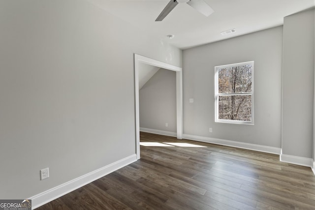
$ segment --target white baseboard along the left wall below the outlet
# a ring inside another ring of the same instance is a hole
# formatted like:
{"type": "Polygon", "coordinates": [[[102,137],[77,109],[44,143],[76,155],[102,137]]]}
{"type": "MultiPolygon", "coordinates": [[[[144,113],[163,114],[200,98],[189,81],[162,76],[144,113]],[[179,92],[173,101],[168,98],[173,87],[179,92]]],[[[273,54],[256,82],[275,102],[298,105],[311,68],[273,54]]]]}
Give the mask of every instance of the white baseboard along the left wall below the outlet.
{"type": "Polygon", "coordinates": [[[32,200],[32,209],[36,209],[44,204],[47,204],[50,201],[53,201],[73,190],[76,190],[92,181],[95,181],[101,177],[104,177],[107,174],[110,174],[126,165],[129,165],[130,163],[136,161],[136,154],[130,155],[126,158],[123,158],[121,160],[118,160],[112,164],[109,164],[107,166],[104,166],[100,169],[97,169],[93,172],[90,172],[86,175],[83,175],[81,177],[78,177],[74,180],[70,180],[68,182],[65,182],[59,186],[56,186],[52,189],[49,189],[45,192],[39,193],[29,199],[32,200]]]}

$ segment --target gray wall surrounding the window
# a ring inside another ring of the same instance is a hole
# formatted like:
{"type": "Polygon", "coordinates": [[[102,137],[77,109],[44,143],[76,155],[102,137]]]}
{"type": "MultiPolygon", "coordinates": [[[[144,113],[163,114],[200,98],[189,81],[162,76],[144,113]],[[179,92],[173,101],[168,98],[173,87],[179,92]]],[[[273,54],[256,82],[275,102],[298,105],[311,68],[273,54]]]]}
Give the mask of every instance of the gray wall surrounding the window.
{"type": "Polygon", "coordinates": [[[184,134],[280,148],[282,36],[277,27],[184,50],[184,134]],[[251,60],[255,124],[216,123],[215,66],[251,60]]]}

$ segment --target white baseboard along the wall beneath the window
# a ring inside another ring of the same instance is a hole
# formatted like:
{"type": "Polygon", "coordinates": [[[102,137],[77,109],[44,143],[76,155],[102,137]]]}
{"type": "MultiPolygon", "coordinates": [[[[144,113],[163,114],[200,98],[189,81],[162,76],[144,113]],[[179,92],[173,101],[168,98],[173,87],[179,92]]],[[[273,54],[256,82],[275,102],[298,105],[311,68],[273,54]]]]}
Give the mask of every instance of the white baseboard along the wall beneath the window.
{"type": "Polygon", "coordinates": [[[243,143],[243,142],[235,142],[235,141],[224,140],[224,139],[216,139],[216,138],[195,136],[195,135],[189,135],[189,134],[183,134],[183,138],[194,140],[194,141],[207,142],[211,144],[224,145],[224,146],[242,148],[242,149],[247,149],[247,150],[262,151],[262,152],[273,153],[273,154],[280,154],[281,152],[281,148],[255,145],[255,144],[249,144],[249,143],[243,143]]]}

